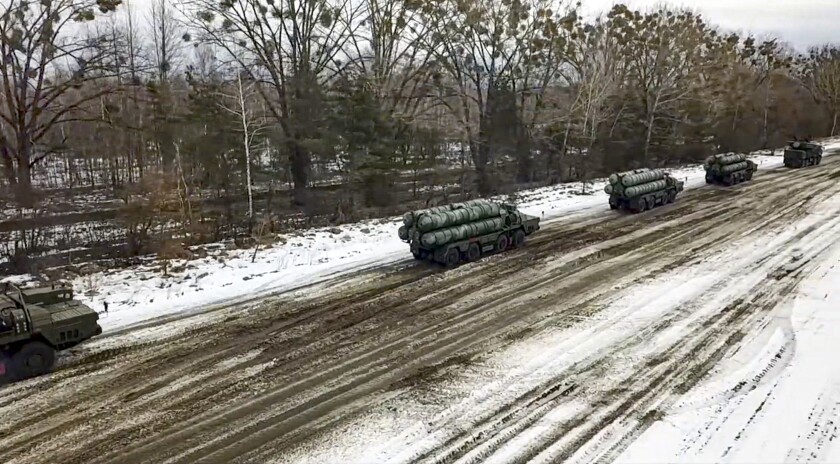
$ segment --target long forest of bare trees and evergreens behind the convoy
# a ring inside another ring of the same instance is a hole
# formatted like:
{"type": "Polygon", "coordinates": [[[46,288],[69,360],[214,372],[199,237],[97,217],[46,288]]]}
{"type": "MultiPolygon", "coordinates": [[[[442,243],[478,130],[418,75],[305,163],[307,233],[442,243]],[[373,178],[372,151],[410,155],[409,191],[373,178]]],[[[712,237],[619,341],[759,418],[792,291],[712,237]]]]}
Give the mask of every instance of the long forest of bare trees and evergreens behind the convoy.
{"type": "Polygon", "coordinates": [[[840,44],[581,11],[7,0],[3,266],[247,245],[840,131],[840,44]]]}

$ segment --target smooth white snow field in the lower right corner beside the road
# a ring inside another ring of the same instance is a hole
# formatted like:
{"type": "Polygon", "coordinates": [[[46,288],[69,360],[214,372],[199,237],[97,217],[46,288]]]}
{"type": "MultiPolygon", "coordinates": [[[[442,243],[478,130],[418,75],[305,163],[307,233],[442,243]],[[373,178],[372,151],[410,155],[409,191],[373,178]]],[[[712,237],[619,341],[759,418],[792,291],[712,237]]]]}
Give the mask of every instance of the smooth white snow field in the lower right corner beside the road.
{"type": "Polygon", "coordinates": [[[840,462],[840,242],[773,324],[618,462],[840,462]]]}

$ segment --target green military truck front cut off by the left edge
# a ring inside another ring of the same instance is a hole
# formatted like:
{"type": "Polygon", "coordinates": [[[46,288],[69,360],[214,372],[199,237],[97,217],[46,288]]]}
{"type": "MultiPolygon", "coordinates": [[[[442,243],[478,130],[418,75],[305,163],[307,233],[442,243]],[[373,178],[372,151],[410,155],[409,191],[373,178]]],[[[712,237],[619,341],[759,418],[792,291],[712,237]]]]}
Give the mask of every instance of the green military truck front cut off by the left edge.
{"type": "Polygon", "coordinates": [[[65,285],[26,288],[6,283],[0,293],[0,380],[49,373],[57,351],[99,335],[99,315],[73,299],[65,285]]]}

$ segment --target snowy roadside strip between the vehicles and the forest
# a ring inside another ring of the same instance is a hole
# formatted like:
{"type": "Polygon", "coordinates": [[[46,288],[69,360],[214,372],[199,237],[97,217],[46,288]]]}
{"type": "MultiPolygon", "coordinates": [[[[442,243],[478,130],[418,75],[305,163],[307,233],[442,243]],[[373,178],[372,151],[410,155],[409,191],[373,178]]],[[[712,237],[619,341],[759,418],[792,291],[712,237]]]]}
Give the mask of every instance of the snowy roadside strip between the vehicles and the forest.
{"type": "MultiPolygon", "coordinates": [[[[833,140],[827,149],[840,147],[833,140]]],[[[781,151],[751,155],[759,169],[782,164],[781,151]]],[[[673,169],[686,188],[705,185],[700,165],[673,169]]],[[[570,214],[609,211],[603,189],[605,179],[560,184],[519,192],[517,203],[526,213],[542,217],[543,224],[570,214]],[[582,194],[584,193],[584,194],[582,194]]],[[[334,228],[313,229],[286,236],[272,246],[253,250],[212,252],[191,261],[172,261],[164,275],[160,263],[118,271],[103,271],[73,280],[80,299],[97,311],[107,332],[155,317],[187,313],[323,281],[348,272],[406,260],[407,245],[397,237],[400,218],[365,221],[334,228]],[[335,233],[338,232],[338,233],[335,233]]]]}

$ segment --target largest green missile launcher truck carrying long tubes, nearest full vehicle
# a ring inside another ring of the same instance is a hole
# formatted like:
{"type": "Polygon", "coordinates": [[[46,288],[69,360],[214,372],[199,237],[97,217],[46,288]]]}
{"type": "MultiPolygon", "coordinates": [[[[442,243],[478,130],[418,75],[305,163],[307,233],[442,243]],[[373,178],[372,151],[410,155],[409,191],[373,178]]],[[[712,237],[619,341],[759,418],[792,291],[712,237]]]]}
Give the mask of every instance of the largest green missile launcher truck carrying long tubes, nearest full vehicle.
{"type": "Polygon", "coordinates": [[[520,247],[539,229],[540,218],[514,205],[472,200],[406,213],[398,235],[410,244],[415,259],[453,267],[520,247]]]}

